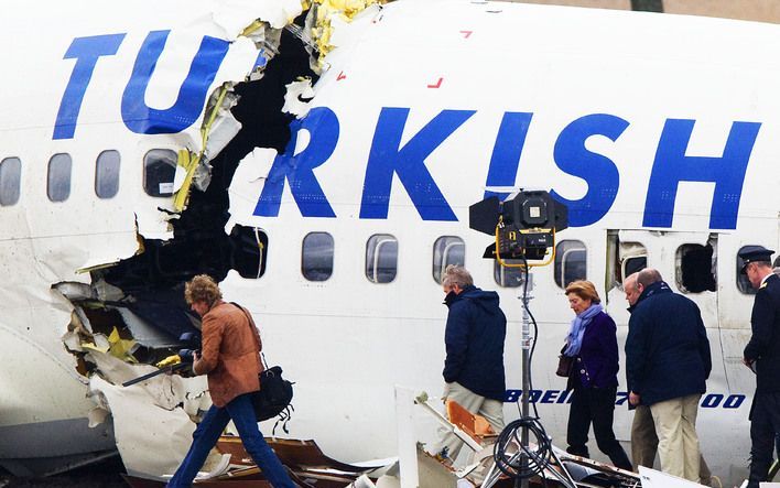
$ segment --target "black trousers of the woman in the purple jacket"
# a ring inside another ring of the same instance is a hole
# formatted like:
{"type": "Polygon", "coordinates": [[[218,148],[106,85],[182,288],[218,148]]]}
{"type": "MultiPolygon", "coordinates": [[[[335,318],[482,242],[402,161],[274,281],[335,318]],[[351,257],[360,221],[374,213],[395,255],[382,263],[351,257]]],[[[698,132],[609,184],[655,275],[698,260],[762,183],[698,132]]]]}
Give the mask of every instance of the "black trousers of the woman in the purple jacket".
{"type": "Polygon", "coordinates": [[[615,398],[617,387],[613,388],[575,388],[572,393],[572,405],[568,410],[568,427],[566,442],[570,454],[589,457],[587,451],[587,434],[593,423],[598,449],[609,456],[613,464],[621,469],[631,470],[622,446],[615,438],[613,417],[615,414],[615,398]]]}

